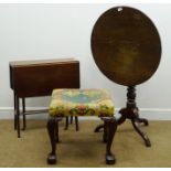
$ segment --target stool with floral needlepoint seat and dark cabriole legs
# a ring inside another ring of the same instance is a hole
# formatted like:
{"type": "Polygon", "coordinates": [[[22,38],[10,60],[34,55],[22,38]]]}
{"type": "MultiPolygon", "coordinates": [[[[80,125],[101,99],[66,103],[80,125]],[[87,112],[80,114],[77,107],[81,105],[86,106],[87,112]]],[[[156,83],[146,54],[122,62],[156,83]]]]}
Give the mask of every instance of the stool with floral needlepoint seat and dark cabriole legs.
{"type": "Polygon", "coordinates": [[[50,104],[47,131],[52,151],[47,162],[56,162],[56,142],[58,142],[58,121],[68,116],[98,116],[104,120],[104,142],[106,142],[106,163],[115,163],[110,151],[117,122],[114,117],[114,104],[105,89],[54,89],[50,104]]]}

